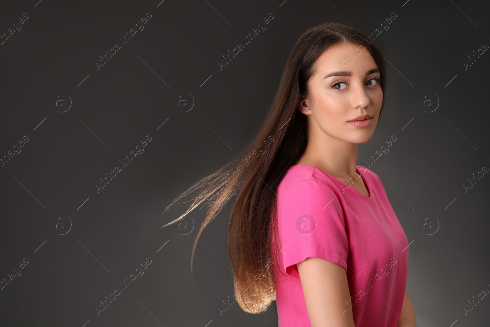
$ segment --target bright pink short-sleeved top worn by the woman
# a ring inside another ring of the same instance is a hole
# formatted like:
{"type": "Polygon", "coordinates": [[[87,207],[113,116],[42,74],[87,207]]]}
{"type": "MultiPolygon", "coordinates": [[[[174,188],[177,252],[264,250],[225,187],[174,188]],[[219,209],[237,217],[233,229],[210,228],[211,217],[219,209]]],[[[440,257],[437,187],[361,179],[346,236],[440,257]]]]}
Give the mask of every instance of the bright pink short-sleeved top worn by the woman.
{"type": "MultiPolygon", "coordinates": [[[[356,327],[396,327],[405,296],[408,240],[379,176],[356,166],[369,197],[311,165],[289,168],[277,190],[279,327],[310,327],[296,263],[318,257],[347,274],[356,327]]],[[[352,179],[355,179],[353,176],[352,179]]],[[[276,271],[276,270],[275,270],[276,271]]]]}

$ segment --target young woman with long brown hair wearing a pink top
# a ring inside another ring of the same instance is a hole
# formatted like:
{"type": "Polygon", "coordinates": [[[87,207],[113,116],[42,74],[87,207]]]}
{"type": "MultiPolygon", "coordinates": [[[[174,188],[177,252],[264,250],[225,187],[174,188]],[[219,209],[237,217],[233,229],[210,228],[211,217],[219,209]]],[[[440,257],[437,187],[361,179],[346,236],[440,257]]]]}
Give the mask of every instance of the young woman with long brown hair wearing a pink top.
{"type": "Polygon", "coordinates": [[[202,189],[164,226],[210,197],[191,271],[203,228],[238,195],[228,250],[243,310],[276,300],[280,327],[416,327],[407,237],[381,179],[356,165],[385,83],[383,56],[364,33],[339,23],[305,31],[256,138],[171,203],[202,189]]]}

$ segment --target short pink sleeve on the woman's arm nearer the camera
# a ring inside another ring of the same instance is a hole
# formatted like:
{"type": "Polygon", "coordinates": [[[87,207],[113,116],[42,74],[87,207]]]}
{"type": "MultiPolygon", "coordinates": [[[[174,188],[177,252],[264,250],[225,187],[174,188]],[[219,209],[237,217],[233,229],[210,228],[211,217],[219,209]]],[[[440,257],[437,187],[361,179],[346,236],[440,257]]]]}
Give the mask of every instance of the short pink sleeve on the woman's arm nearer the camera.
{"type": "Polygon", "coordinates": [[[318,257],[347,267],[347,234],[341,203],[324,182],[307,178],[278,190],[278,236],[286,273],[299,278],[296,263],[318,257]]]}

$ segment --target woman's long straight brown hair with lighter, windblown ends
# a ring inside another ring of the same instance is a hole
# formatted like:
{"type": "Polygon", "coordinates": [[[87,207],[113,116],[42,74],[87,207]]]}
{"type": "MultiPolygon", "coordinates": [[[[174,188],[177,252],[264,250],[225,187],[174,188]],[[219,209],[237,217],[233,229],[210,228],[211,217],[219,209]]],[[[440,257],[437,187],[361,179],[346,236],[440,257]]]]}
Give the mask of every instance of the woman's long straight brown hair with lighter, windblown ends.
{"type": "MultiPolygon", "coordinates": [[[[309,28],[291,51],[265,123],[253,141],[237,157],[196,182],[165,209],[167,211],[177,200],[200,189],[189,209],[162,227],[177,222],[210,197],[209,210],[194,242],[192,272],[194,251],[202,230],[232,196],[238,195],[231,211],[228,252],[234,271],[236,300],[246,312],[263,312],[275,300],[270,260],[278,257],[276,190],[286,171],[305,151],[308,135],[306,115],[296,108],[300,97],[309,95],[308,81],[316,72],[317,58],[338,43],[364,45],[369,50],[380,70],[384,94],[385,62],[378,46],[370,42],[366,34],[340,23],[322,23],[309,28]]],[[[381,111],[383,106],[384,100],[381,111]]],[[[280,269],[278,265],[276,267],[280,269]]]]}

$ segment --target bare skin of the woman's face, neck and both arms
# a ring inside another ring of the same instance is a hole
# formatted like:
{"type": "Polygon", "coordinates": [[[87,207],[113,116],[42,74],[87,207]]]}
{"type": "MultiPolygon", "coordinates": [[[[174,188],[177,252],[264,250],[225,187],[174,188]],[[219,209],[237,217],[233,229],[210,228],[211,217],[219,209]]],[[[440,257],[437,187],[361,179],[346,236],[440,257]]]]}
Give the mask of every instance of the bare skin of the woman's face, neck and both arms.
{"type": "MultiPolygon", "coordinates": [[[[296,164],[316,166],[342,182],[369,196],[364,181],[356,174],[359,143],[368,142],[376,129],[383,91],[378,82],[378,68],[367,49],[351,59],[350,51],[359,53],[358,45],[341,43],[325,50],[315,63],[309,80],[310,94],[298,100],[297,108],[308,119],[308,144],[296,164]],[[343,62],[344,64],[342,64],[343,62]],[[332,72],[341,72],[324,78],[332,72]],[[346,73],[350,73],[345,75],[346,73]],[[371,115],[366,127],[348,123],[360,115],[371,115]]],[[[334,262],[310,257],[296,264],[305,304],[312,327],[353,327],[349,285],[345,269],[334,262]],[[347,302],[346,302],[347,301],[347,302]]],[[[405,291],[397,327],[416,327],[415,311],[405,291]]]]}

